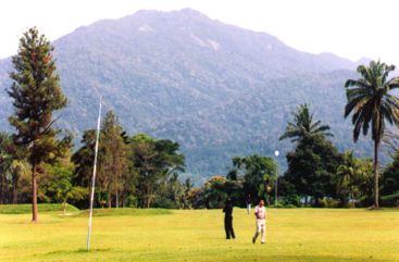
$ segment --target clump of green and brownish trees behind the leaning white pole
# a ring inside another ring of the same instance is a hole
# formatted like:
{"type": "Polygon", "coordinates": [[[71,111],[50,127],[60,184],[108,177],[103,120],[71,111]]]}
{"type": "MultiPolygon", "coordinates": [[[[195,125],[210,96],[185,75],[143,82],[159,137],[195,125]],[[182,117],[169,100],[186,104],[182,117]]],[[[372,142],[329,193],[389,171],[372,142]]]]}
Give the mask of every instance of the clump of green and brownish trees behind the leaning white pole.
{"type": "MultiPolygon", "coordinates": [[[[95,157],[95,130],[86,130],[83,146],[72,155],[75,164],[71,178],[75,187],[89,188],[95,157]]],[[[192,186],[178,179],[184,172],[179,145],[146,134],[127,137],[117,116],[109,111],[101,126],[96,202],[111,207],[185,208],[185,195],[192,186]]],[[[76,201],[77,200],[77,201],[76,201]]],[[[87,207],[87,201],[76,205],[87,207]]]]}

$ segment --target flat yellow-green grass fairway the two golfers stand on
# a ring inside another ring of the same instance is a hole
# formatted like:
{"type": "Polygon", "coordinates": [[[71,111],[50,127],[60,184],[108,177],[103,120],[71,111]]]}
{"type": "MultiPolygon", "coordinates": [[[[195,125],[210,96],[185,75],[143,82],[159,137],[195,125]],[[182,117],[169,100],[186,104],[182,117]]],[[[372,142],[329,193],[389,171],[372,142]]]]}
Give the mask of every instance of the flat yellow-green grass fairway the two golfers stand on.
{"type": "Polygon", "coordinates": [[[251,242],[253,215],[234,210],[226,240],[221,210],[98,211],[92,250],[87,215],[0,214],[0,261],[399,261],[399,211],[267,210],[267,242],[251,242]]]}

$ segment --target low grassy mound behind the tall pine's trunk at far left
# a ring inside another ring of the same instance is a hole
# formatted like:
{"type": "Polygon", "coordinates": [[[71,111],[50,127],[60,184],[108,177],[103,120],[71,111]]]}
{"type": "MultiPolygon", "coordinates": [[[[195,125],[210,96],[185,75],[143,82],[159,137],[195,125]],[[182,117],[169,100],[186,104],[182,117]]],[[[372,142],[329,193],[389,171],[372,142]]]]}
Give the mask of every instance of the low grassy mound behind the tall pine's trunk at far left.
{"type": "MultiPolygon", "coordinates": [[[[61,212],[64,207],[60,203],[40,203],[38,204],[39,212],[61,212]]],[[[77,208],[66,204],[66,212],[77,212],[77,208]]],[[[32,212],[30,204],[0,204],[0,214],[28,214],[32,212]]]]}

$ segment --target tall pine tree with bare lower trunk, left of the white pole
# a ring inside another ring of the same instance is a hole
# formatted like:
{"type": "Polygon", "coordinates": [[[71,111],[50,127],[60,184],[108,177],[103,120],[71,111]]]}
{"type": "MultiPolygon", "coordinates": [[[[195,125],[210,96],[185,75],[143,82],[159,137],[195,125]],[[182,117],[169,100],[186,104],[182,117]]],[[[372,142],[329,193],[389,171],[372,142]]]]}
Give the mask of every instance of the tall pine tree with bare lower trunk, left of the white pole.
{"type": "Polygon", "coordinates": [[[32,213],[33,222],[38,220],[37,175],[41,164],[53,160],[71,140],[58,139],[59,129],[52,127],[52,113],[64,108],[66,97],[60,87],[54,48],[37,28],[29,28],[20,39],[17,54],[12,58],[13,83],[8,90],[13,99],[14,114],[9,121],[15,127],[16,145],[26,148],[32,164],[32,213]],[[68,142],[66,142],[68,141],[68,142]]]}

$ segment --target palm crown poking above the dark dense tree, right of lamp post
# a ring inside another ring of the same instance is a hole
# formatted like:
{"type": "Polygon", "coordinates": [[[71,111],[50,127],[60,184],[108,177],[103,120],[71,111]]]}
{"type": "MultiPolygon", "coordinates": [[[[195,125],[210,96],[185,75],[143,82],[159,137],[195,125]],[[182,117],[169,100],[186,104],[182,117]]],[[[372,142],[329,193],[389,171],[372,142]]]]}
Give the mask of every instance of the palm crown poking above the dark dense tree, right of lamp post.
{"type": "Polygon", "coordinates": [[[321,125],[321,121],[313,122],[313,113],[310,113],[310,105],[299,104],[297,111],[292,112],[294,123],[288,122],[285,133],[278,138],[279,140],[290,138],[291,142],[301,140],[308,135],[321,134],[324,136],[333,136],[328,125],[321,125]]]}

